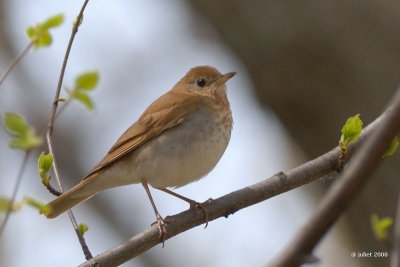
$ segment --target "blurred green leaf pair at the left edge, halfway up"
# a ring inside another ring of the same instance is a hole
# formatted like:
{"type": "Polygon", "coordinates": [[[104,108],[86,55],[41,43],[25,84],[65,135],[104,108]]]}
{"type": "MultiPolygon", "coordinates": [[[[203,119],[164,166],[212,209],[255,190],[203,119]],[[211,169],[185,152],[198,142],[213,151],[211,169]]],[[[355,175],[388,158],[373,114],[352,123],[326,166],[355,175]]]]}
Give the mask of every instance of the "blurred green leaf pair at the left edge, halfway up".
{"type": "Polygon", "coordinates": [[[29,150],[42,144],[42,138],[37,136],[35,130],[18,114],[6,113],[3,124],[11,135],[11,148],[29,150]]]}

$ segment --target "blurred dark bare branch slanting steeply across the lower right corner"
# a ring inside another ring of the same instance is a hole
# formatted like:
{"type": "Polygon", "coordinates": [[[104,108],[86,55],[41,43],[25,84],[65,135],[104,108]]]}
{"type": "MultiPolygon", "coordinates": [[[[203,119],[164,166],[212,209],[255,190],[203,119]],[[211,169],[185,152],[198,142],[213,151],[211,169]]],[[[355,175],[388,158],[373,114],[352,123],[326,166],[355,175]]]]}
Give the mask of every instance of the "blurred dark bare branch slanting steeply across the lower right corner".
{"type": "Polygon", "coordinates": [[[288,248],[269,266],[287,267],[303,264],[304,259],[310,258],[321,238],[360,193],[400,130],[400,88],[392,103],[388,108],[390,112],[382,120],[380,127],[360,147],[342,176],[333,184],[288,248]]]}

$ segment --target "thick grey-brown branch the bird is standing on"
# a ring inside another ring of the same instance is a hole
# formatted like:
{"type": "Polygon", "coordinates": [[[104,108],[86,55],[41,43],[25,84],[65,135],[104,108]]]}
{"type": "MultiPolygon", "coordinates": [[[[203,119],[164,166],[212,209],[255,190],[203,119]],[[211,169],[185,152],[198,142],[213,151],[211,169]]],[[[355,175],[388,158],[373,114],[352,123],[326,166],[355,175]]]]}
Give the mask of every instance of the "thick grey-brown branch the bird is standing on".
{"type": "MultiPolygon", "coordinates": [[[[349,156],[351,151],[354,151],[375,128],[380,127],[382,119],[388,114],[390,114],[390,111],[383,113],[364,129],[359,140],[350,146],[349,156]]],[[[262,182],[234,191],[216,200],[207,201],[203,207],[207,210],[209,221],[228,217],[240,209],[327,175],[336,170],[338,157],[339,149],[334,148],[328,153],[285,173],[278,173],[262,182]]],[[[167,220],[169,223],[167,224],[166,239],[205,223],[203,213],[198,210],[187,210],[174,216],[168,216],[167,220]]],[[[159,244],[161,241],[158,236],[159,231],[155,225],[132,237],[127,242],[81,264],[80,267],[96,266],[96,264],[102,267],[120,265],[159,244]]]]}

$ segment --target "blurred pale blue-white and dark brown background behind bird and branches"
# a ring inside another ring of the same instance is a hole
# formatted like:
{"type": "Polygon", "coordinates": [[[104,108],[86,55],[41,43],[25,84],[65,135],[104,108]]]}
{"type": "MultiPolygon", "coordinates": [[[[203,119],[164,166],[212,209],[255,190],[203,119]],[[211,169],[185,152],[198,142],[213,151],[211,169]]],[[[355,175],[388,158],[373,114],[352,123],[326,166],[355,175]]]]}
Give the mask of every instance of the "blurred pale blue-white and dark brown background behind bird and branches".
{"type": "MultiPolygon", "coordinates": [[[[0,1],[0,71],[27,45],[25,29],[63,13],[49,48],[31,51],[0,87],[0,113],[40,127],[51,102],[71,25],[82,1],[0,1]]],[[[191,67],[236,71],[228,82],[234,116],[230,145],[206,179],[179,188],[197,201],[217,198],[295,167],[336,146],[349,116],[365,125],[385,108],[400,77],[400,11],[395,1],[90,1],[64,87],[88,70],[101,81],[88,113],[73,103],[59,117],[56,153],[63,184],[79,181],[119,135],[191,67]]],[[[63,92],[65,96],[65,91],[63,92]]],[[[0,130],[0,196],[10,196],[23,152],[0,130]]],[[[18,199],[53,197],[30,157],[18,199]]],[[[399,155],[385,160],[349,211],[317,247],[319,266],[385,266],[350,253],[389,251],[370,214],[394,216],[399,155]]],[[[331,181],[323,179],[168,240],[123,266],[265,266],[307,222],[331,181]]],[[[163,216],[186,203],[153,191],[163,216]]],[[[143,188],[98,194],[74,209],[97,255],[143,231],[154,214],[143,188]]],[[[2,219],[3,217],[0,217],[2,219]]],[[[54,220],[25,207],[0,239],[0,266],[75,266],[84,261],[66,215],[54,220]]]]}

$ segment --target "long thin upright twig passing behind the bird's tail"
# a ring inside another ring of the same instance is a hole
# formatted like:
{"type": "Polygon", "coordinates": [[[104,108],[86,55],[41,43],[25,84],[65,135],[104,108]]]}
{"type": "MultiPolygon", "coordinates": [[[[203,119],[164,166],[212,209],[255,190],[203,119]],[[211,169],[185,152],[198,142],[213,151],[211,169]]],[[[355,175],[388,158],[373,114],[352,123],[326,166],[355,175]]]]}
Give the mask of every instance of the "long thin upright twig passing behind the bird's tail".
{"type": "MultiPolygon", "coordinates": [[[[77,16],[77,18],[75,19],[74,22],[74,26],[72,27],[72,32],[71,32],[71,37],[69,39],[68,42],[68,46],[67,46],[67,50],[65,51],[65,56],[64,56],[64,61],[61,67],[61,72],[60,72],[60,77],[58,79],[58,85],[57,85],[57,89],[56,89],[56,94],[54,96],[54,101],[53,101],[53,106],[52,106],[52,112],[51,112],[51,117],[50,117],[50,121],[49,124],[47,126],[47,131],[46,131],[46,141],[47,141],[47,146],[49,148],[49,152],[53,155],[53,172],[54,172],[54,176],[55,179],[57,181],[58,184],[58,188],[60,192],[63,192],[63,188],[62,188],[62,184],[61,184],[61,178],[60,178],[60,174],[58,171],[58,164],[57,164],[57,157],[56,154],[54,153],[54,145],[53,145],[53,131],[54,131],[54,123],[55,123],[55,119],[56,119],[56,114],[57,114],[57,108],[58,108],[58,102],[59,102],[59,98],[60,98],[60,93],[61,93],[61,86],[64,80],[64,74],[65,74],[65,70],[67,67],[67,62],[68,62],[68,58],[69,58],[69,54],[72,48],[72,44],[74,42],[76,33],[78,32],[78,28],[80,26],[80,22],[82,21],[83,18],[83,12],[85,11],[86,5],[88,4],[89,0],[85,0],[85,2],[83,3],[81,10],[79,12],[79,15],[77,16]]],[[[76,222],[75,216],[72,213],[71,210],[68,211],[68,216],[69,219],[75,229],[75,233],[78,236],[79,242],[81,244],[82,250],[85,254],[85,258],[86,259],[90,259],[92,258],[92,255],[88,249],[88,246],[86,245],[85,239],[83,238],[83,236],[80,234],[79,230],[78,230],[78,223],[76,222]]]]}

